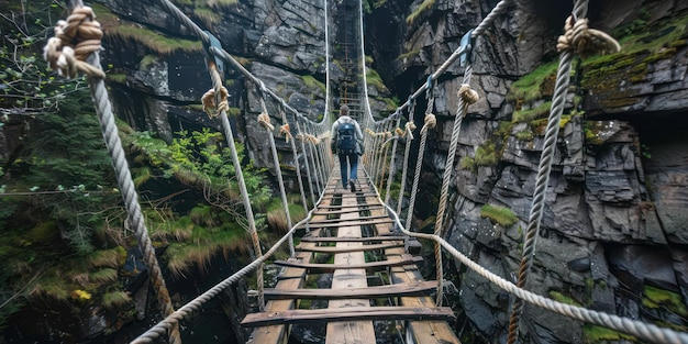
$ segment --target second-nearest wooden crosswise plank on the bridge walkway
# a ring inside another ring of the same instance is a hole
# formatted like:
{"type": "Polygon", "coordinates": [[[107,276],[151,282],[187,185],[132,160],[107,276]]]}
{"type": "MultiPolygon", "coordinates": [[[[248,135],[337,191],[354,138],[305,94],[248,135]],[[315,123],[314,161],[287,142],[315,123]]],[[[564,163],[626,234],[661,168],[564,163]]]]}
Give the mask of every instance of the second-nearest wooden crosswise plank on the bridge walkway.
{"type": "Polygon", "coordinates": [[[422,296],[434,291],[437,284],[434,281],[418,281],[367,288],[342,289],[265,289],[265,298],[270,300],[284,299],[374,299],[380,297],[422,296]]]}

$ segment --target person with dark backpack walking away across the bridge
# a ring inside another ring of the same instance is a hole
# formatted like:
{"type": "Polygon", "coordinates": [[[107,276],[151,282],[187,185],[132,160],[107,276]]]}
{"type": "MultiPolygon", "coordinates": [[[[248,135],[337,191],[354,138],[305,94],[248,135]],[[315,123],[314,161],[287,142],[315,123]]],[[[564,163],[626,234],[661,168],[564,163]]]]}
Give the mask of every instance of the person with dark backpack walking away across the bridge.
{"type": "Polygon", "coordinates": [[[363,132],[356,120],[348,116],[348,107],[340,107],[340,118],[332,124],[331,148],[340,156],[342,186],[346,189],[347,181],[352,192],[356,192],[358,156],[363,155],[363,132]],[[348,167],[348,168],[347,168],[348,167]],[[351,174],[349,174],[351,170],[351,174]]]}

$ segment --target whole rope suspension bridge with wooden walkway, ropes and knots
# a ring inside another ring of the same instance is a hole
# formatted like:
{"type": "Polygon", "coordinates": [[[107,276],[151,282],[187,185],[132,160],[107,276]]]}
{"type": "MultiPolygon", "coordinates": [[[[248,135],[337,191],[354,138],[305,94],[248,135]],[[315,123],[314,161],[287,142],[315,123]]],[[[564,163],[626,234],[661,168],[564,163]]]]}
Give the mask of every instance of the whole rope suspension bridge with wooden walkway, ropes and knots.
{"type": "MultiPolygon", "coordinates": [[[[91,87],[91,95],[96,103],[96,110],[101,123],[103,138],[111,155],[113,168],[116,173],[118,184],[120,186],[120,190],[122,190],[122,198],[129,213],[129,222],[131,228],[135,229],[138,243],[142,252],[144,253],[144,262],[149,267],[148,270],[151,279],[154,281],[153,285],[155,292],[158,297],[163,314],[165,315],[163,321],[151,328],[132,343],[151,343],[165,334],[168,335],[171,343],[180,343],[179,322],[181,320],[193,317],[195,312],[198,311],[206,302],[253,271],[257,271],[258,307],[262,312],[248,314],[244,320],[244,323],[246,325],[258,326],[258,330],[254,331],[254,335],[252,337],[256,341],[256,343],[266,343],[264,341],[266,335],[274,339],[275,342],[278,341],[279,336],[281,336],[285,332],[285,324],[292,321],[306,323],[324,321],[329,323],[328,329],[336,331],[339,335],[352,339],[356,337],[369,340],[371,335],[373,339],[375,336],[375,334],[370,334],[370,326],[367,324],[358,325],[358,323],[363,320],[380,318],[393,319],[396,321],[406,320],[407,322],[399,323],[399,326],[406,329],[408,336],[407,342],[415,341],[425,343],[434,336],[437,342],[442,340],[457,343],[458,341],[455,335],[451,333],[451,331],[445,332],[444,330],[444,328],[446,328],[446,322],[444,321],[451,319],[453,314],[451,313],[451,310],[442,307],[443,253],[458,259],[468,268],[475,270],[477,274],[481,275],[499,288],[515,297],[510,319],[509,343],[513,343],[518,337],[518,323],[520,321],[519,318],[522,312],[523,301],[579,321],[632,334],[642,340],[657,343],[688,343],[688,334],[686,333],[658,328],[653,324],[645,324],[628,318],[564,304],[534,295],[523,288],[526,282],[528,271],[532,265],[535,240],[537,237],[542,220],[544,191],[548,181],[552,157],[554,155],[554,144],[556,136],[558,135],[564,99],[566,98],[566,91],[569,84],[572,59],[575,54],[585,55],[591,51],[617,52],[619,49],[618,43],[611,40],[611,37],[587,27],[587,20],[585,19],[588,5],[587,0],[577,0],[575,2],[573,14],[566,22],[566,34],[559,38],[557,44],[557,48],[561,52],[559,70],[557,74],[547,130],[545,133],[536,187],[533,195],[531,215],[529,218],[529,225],[525,233],[523,257],[518,276],[518,282],[515,285],[482,268],[443,240],[448,185],[452,178],[454,157],[456,154],[462,121],[466,115],[468,106],[477,100],[477,92],[471,90],[469,87],[473,74],[471,49],[476,40],[492,25],[498,15],[507,11],[511,1],[500,1],[495,7],[492,12],[490,12],[478,26],[466,33],[462,40],[460,46],[450,56],[450,58],[445,60],[442,66],[440,66],[440,68],[437,68],[435,73],[428,77],[426,82],[424,82],[414,93],[410,95],[406,103],[382,120],[376,121],[371,114],[370,107],[367,102],[368,97],[365,73],[362,73],[362,103],[364,104],[364,115],[362,122],[363,126],[366,127],[367,135],[365,137],[365,151],[368,152],[368,154],[366,154],[363,158],[363,165],[365,167],[362,167],[362,175],[364,175],[365,178],[362,178],[362,181],[358,185],[359,190],[355,195],[343,195],[342,191],[336,191],[340,176],[336,169],[333,169],[336,162],[329,152],[329,129],[331,125],[330,116],[328,115],[330,112],[329,75],[326,82],[328,98],[325,101],[325,116],[320,122],[313,122],[307,116],[300,114],[296,109],[289,107],[284,99],[268,89],[260,79],[253,76],[233,56],[226,53],[222,48],[219,40],[213,37],[210,33],[201,30],[170,1],[159,0],[159,3],[170,14],[182,22],[187,29],[195,33],[196,36],[203,42],[206,47],[206,62],[213,88],[203,96],[203,108],[209,115],[219,119],[222,123],[223,134],[228,142],[228,146],[231,149],[233,164],[236,168],[236,179],[242,193],[243,204],[248,220],[248,232],[252,236],[256,258],[251,264],[224,279],[222,282],[198,296],[196,299],[191,300],[181,308],[174,310],[165,285],[165,279],[162,275],[151,240],[147,235],[147,229],[137,201],[137,193],[129,171],[116,126],[114,125],[114,116],[112,114],[108,92],[104,87],[104,73],[102,71],[98,56],[102,32],[100,32],[100,26],[95,21],[92,11],[89,8],[84,7],[81,1],[71,1],[73,13],[69,15],[67,21],[60,21],[58,23],[55,30],[55,37],[51,38],[45,47],[45,57],[49,62],[51,67],[58,70],[58,73],[63,76],[75,77],[79,73],[87,75],[88,82],[91,87]],[[454,121],[452,140],[447,153],[447,168],[445,169],[442,182],[435,231],[433,234],[415,233],[411,229],[411,219],[415,207],[415,198],[418,195],[420,173],[423,165],[425,143],[429,131],[436,125],[436,119],[432,113],[434,108],[433,88],[437,78],[457,59],[459,59],[462,67],[465,67],[465,73],[463,86],[458,90],[459,102],[456,110],[456,119],[454,121]],[[233,132],[228,120],[228,93],[226,89],[223,87],[222,75],[222,66],[224,63],[230,64],[233,68],[244,74],[247,79],[255,85],[255,92],[258,95],[262,108],[262,113],[258,115],[257,122],[265,127],[266,133],[268,134],[267,136],[269,137],[270,151],[273,152],[273,160],[280,188],[280,198],[287,219],[290,219],[290,214],[286,198],[286,189],[281,177],[280,162],[276,151],[275,136],[285,136],[285,140],[290,143],[293,156],[298,156],[300,152],[301,155],[306,155],[308,157],[304,159],[306,177],[302,176],[299,164],[296,164],[299,191],[301,196],[300,201],[304,208],[308,209],[307,198],[310,196],[311,203],[314,204],[314,207],[308,212],[306,219],[296,224],[289,223],[290,230],[288,233],[278,240],[265,253],[262,251],[258,240],[251,200],[243,179],[242,166],[234,145],[233,132]],[[413,171],[413,182],[411,185],[411,196],[409,207],[407,209],[407,219],[403,222],[406,223],[404,226],[400,220],[402,211],[401,199],[404,195],[406,180],[409,173],[408,166],[410,147],[411,142],[415,140],[414,131],[417,130],[417,126],[412,122],[407,122],[403,129],[401,129],[400,124],[401,116],[404,111],[408,110],[409,119],[413,118],[413,113],[415,112],[415,101],[423,93],[428,99],[428,106],[425,109],[424,123],[418,133],[420,134],[420,145],[418,158],[414,162],[415,170],[413,171]],[[279,119],[282,122],[277,133],[275,125],[271,123],[271,116],[268,114],[268,99],[277,103],[276,108],[279,112],[279,119]],[[292,130],[296,130],[296,135],[291,134],[292,130]],[[401,184],[401,188],[397,197],[397,209],[395,210],[389,206],[391,202],[390,190],[391,182],[397,173],[395,170],[395,167],[397,166],[395,159],[397,156],[398,142],[401,137],[406,138],[403,162],[401,164],[403,166],[401,180],[404,182],[401,184]],[[298,146],[297,140],[299,141],[298,146]],[[303,185],[303,179],[308,181],[307,185],[303,185]],[[385,200],[381,200],[378,190],[384,188],[386,189],[385,200]],[[307,193],[307,189],[310,195],[307,193]],[[332,217],[333,214],[339,215],[335,223],[329,219],[329,217],[332,217]],[[363,233],[356,232],[356,229],[360,230],[362,228],[367,226],[375,228],[371,235],[363,235],[363,233]],[[328,233],[330,228],[339,228],[337,232],[342,232],[343,235],[340,235],[339,237],[329,235],[331,234],[328,233]],[[312,231],[310,231],[311,229],[312,231]],[[301,243],[295,247],[292,236],[297,230],[306,230],[308,233],[301,238],[301,243]],[[412,237],[425,238],[434,243],[435,267],[437,269],[436,276],[439,276],[436,282],[422,281],[420,280],[418,274],[413,273],[413,266],[418,259],[409,255],[409,253],[413,251],[412,247],[414,247],[413,240],[411,240],[412,237]],[[321,242],[333,243],[335,246],[318,245],[321,242]],[[364,245],[364,243],[367,244],[364,245]],[[279,289],[266,290],[264,289],[262,274],[263,265],[268,259],[271,259],[273,255],[285,244],[289,246],[290,258],[284,262],[277,262],[277,264],[285,267],[282,270],[284,278],[280,281],[280,284],[284,282],[285,286],[279,289]],[[366,249],[377,252],[384,251],[387,255],[387,260],[366,263],[365,258],[364,260],[360,260],[360,257],[355,257],[355,255],[358,256],[359,253],[363,255],[362,252],[366,249]],[[309,263],[310,257],[318,253],[334,254],[334,265],[326,266],[323,264],[309,263]],[[348,260],[348,265],[343,267],[344,260],[348,260]],[[335,276],[336,274],[357,275],[360,273],[359,275],[363,275],[365,278],[367,271],[374,271],[380,268],[387,269],[390,275],[389,277],[393,277],[397,282],[403,284],[403,288],[400,288],[399,285],[395,286],[395,284],[369,288],[358,287],[359,285],[363,286],[359,278],[344,276],[342,277],[342,280],[345,280],[346,285],[335,286],[335,282],[333,281],[333,288],[336,287],[337,289],[336,293],[330,292],[331,295],[329,295],[328,292],[313,289],[310,291],[299,291],[303,289],[298,289],[298,284],[303,279],[304,270],[312,273],[335,270],[335,276]],[[423,296],[432,289],[434,289],[435,293],[434,302],[430,302],[430,299],[426,296],[423,296]],[[369,302],[366,304],[365,299],[390,296],[395,296],[395,298],[399,297],[400,301],[392,301],[391,303],[401,303],[402,307],[387,309],[385,307],[370,308],[369,302]],[[271,300],[266,303],[266,298],[271,300]],[[330,301],[331,307],[348,306],[349,308],[343,309],[345,311],[337,312],[333,312],[331,309],[310,312],[293,310],[293,302],[291,300],[295,298],[334,298],[336,300],[330,301]],[[279,314],[268,313],[265,311],[268,308],[273,309],[275,307],[284,307],[285,304],[282,299],[287,300],[287,303],[284,310],[280,310],[279,314]],[[279,302],[282,302],[282,304],[279,306],[279,302]],[[343,320],[346,321],[342,322],[343,320]],[[355,323],[355,325],[352,325],[353,323],[355,323]],[[415,336],[415,339],[412,336],[415,336]],[[262,340],[258,341],[258,339],[262,340]]],[[[325,1],[323,1],[323,8],[325,9],[325,18],[328,18],[328,3],[325,1]]],[[[365,70],[362,13],[360,2],[358,2],[358,21],[360,30],[358,63],[360,64],[360,70],[365,70]]],[[[325,55],[328,56],[328,73],[330,69],[329,40],[329,31],[325,23],[325,41],[328,42],[325,55]]]]}

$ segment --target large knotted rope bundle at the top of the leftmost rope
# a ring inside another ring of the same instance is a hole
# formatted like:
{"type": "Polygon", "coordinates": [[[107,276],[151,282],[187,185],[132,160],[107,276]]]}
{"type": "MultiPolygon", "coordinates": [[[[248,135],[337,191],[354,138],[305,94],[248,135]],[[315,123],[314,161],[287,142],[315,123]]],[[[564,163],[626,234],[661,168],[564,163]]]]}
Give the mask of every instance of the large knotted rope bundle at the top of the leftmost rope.
{"type": "Polygon", "coordinates": [[[43,48],[43,58],[59,76],[76,78],[79,71],[97,78],[106,74],[99,67],[86,62],[95,52],[99,52],[102,30],[89,7],[75,8],[67,21],[57,21],[55,36],[51,37],[43,48]]]}

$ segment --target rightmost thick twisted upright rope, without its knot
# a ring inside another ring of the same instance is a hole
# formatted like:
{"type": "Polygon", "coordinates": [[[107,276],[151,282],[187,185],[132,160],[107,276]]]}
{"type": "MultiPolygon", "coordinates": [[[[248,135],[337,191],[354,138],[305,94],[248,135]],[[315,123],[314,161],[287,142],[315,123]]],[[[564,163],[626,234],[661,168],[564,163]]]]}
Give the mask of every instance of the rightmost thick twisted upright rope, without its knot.
{"type": "MultiPolygon", "coordinates": [[[[588,0],[576,0],[573,10],[574,18],[582,19],[586,16],[587,12],[588,0]]],[[[531,212],[529,215],[528,228],[524,235],[523,254],[521,257],[521,263],[519,265],[519,275],[517,280],[518,288],[525,287],[525,284],[528,282],[528,275],[533,264],[535,244],[537,242],[540,225],[542,222],[542,217],[544,214],[545,196],[547,184],[550,182],[550,173],[552,170],[552,163],[556,148],[556,138],[559,133],[559,122],[562,120],[562,113],[564,112],[566,95],[568,92],[568,85],[570,84],[570,70],[573,59],[574,52],[570,49],[563,51],[559,56],[559,67],[557,70],[554,95],[552,96],[553,100],[550,110],[550,116],[547,119],[547,127],[545,130],[545,137],[540,157],[540,165],[537,167],[537,176],[533,190],[531,212]]],[[[513,344],[517,341],[517,336],[519,333],[518,326],[522,312],[523,302],[521,299],[517,299],[513,303],[511,317],[509,319],[509,335],[507,340],[507,343],[509,344],[513,344]]]]}

